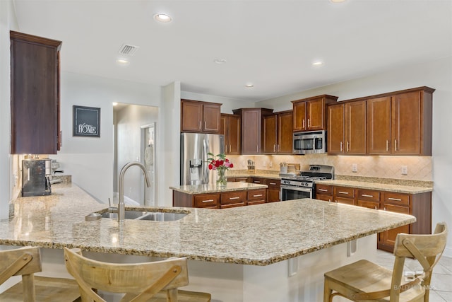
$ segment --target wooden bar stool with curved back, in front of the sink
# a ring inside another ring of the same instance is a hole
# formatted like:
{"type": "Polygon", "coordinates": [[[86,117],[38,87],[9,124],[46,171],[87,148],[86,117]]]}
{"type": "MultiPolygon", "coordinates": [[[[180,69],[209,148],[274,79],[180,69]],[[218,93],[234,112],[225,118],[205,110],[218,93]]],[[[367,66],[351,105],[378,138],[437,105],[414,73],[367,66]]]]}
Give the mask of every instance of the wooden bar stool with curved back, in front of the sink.
{"type": "Polygon", "coordinates": [[[78,248],[64,248],[64,260],[80,286],[83,302],[105,302],[97,290],[126,294],[121,302],[210,301],[210,294],[177,290],[189,284],[186,258],[117,264],[83,257],[78,248]]]}

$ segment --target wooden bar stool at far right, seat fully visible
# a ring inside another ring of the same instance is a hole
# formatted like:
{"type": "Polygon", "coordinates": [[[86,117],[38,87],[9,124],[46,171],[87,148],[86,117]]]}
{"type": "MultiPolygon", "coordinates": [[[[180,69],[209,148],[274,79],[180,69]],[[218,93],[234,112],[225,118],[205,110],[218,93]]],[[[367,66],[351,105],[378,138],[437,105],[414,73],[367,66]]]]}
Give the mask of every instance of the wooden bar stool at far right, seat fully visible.
{"type": "Polygon", "coordinates": [[[446,248],[446,239],[444,222],[436,224],[432,235],[399,233],[394,246],[396,258],[392,271],[359,260],[327,272],[323,302],[331,302],[333,296],[343,296],[352,301],[428,302],[432,270],[446,248]],[[403,280],[406,257],[415,258],[423,268],[423,274],[410,281],[403,280]]]}

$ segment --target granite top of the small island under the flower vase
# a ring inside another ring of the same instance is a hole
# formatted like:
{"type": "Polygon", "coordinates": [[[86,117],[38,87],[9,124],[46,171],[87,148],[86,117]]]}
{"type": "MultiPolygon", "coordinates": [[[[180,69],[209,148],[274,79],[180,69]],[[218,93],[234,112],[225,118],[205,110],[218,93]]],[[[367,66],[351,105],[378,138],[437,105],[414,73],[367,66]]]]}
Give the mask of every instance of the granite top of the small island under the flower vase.
{"type": "Polygon", "coordinates": [[[186,193],[186,194],[206,194],[206,193],[222,193],[243,190],[266,189],[267,185],[257,185],[248,182],[227,182],[226,187],[219,188],[216,185],[181,185],[177,187],[169,187],[169,189],[186,193]]]}

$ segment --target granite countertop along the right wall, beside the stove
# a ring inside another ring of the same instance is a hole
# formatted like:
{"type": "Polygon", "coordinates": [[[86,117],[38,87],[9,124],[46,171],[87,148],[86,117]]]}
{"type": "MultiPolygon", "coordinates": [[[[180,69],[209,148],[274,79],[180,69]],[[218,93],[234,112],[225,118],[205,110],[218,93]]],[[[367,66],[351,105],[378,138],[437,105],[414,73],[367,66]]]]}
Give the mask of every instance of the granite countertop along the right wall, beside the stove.
{"type": "Polygon", "coordinates": [[[342,187],[355,187],[358,189],[379,190],[406,194],[418,194],[432,192],[432,187],[420,187],[416,185],[400,185],[398,183],[364,182],[355,180],[317,180],[315,183],[322,185],[340,185],[342,187]]]}

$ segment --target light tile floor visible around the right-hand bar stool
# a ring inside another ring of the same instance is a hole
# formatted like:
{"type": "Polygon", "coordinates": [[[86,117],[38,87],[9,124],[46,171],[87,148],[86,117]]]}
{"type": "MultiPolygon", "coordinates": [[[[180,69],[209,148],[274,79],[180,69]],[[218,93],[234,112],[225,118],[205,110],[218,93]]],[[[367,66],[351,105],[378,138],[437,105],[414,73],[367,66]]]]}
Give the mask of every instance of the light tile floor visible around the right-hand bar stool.
{"type": "MultiPolygon", "coordinates": [[[[378,250],[378,264],[393,269],[394,256],[391,252],[378,250]]],[[[417,260],[405,260],[405,271],[422,270],[417,260]]],[[[442,256],[433,269],[432,289],[429,302],[452,302],[452,258],[442,256]]]]}

